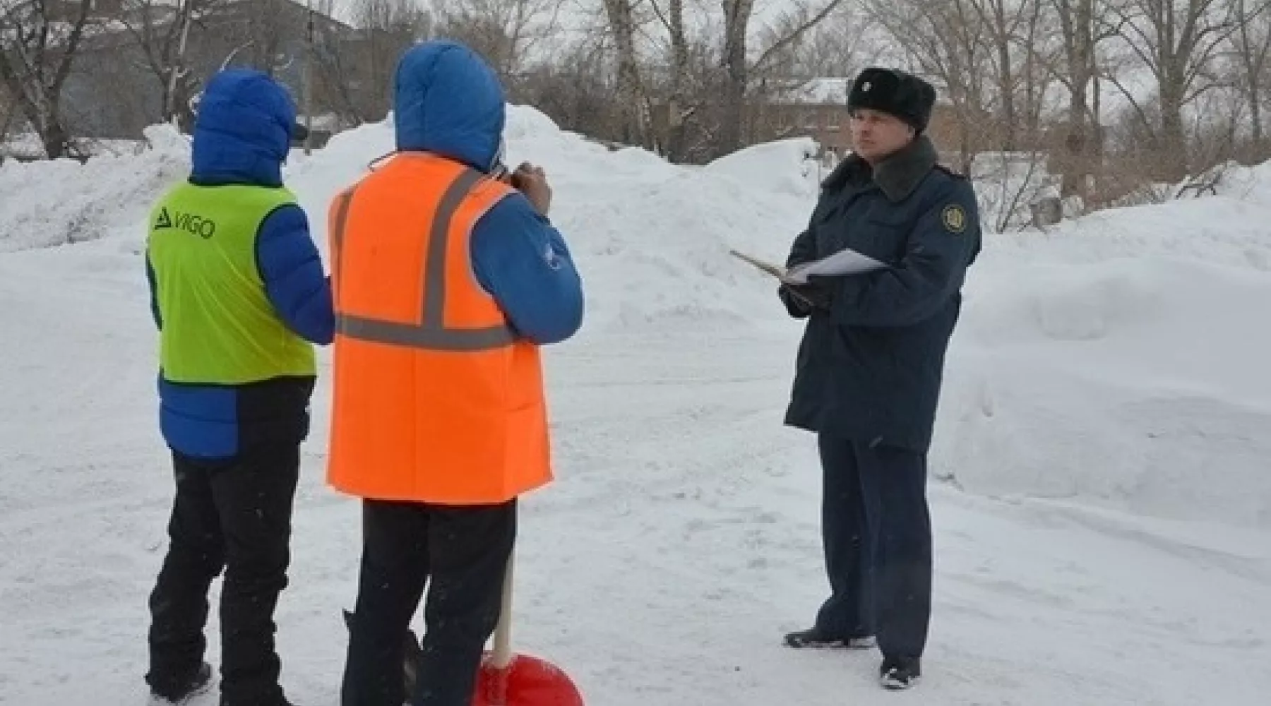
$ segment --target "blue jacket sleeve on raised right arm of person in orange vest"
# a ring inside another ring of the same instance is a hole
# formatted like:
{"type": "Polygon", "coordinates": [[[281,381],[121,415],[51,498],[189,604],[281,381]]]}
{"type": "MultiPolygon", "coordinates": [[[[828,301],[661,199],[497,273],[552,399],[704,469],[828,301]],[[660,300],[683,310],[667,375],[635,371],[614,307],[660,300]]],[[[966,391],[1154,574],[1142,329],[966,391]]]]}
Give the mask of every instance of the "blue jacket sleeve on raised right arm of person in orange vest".
{"type": "Polygon", "coordinates": [[[582,281],[564,239],[522,194],[477,221],[473,272],[508,324],[539,345],[568,339],[582,325],[582,281]]]}

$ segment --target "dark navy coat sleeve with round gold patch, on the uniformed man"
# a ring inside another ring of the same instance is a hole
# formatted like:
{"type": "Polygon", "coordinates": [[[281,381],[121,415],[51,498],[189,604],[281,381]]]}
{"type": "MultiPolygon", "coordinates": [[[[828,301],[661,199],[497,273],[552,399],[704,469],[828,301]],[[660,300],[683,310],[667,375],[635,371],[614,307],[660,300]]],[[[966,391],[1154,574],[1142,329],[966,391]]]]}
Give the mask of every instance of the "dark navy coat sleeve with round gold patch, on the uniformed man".
{"type": "Polygon", "coordinates": [[[962,179],[927,199],[901,260],[866,276],[839,277],[830,311],[848,326],[909,326],[933,316],[962,287],[980,249],[975,192],[962,179]]]}

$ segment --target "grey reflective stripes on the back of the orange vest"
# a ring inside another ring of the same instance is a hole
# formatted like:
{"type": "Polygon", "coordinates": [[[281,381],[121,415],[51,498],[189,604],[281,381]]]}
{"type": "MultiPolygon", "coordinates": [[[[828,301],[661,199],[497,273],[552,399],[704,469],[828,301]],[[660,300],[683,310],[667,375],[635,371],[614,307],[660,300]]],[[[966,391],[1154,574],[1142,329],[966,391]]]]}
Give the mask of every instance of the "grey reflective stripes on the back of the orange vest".
{"type": "MultiPolygon", "coordinates": [[[[446,188],[432,218],[428,234],[428,253],[423,264],[423,312],[418,324],[384,321],[348,314],[336,315],[336,330],[358,340],[423,348],[427,350],[489,350],[510,345],[516,336],[507,325],[483,329],[447,329],[444,321],[446,311],[446,250],[450,240],[450,222],[463,203],[464,197],[483,179],[479,171],[464,170],[446,188]]],[[[336,225],[332,244],[336,250],[337,269],[344,243],[344,225],[348,220],[348,206],[357,188],[339,197],[336,206],[336,225]]]]}

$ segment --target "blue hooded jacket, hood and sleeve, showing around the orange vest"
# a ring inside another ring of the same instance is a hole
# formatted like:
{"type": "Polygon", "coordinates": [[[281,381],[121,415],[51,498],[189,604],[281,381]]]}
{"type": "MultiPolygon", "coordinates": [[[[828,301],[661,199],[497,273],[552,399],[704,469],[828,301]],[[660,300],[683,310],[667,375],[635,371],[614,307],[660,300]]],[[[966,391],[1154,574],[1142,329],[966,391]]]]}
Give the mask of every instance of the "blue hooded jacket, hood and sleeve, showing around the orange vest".
{"type": "MultiPolygon", "coordinates": [[[[426,151],[483,173],[500,166],[506,119],[498,76],[468,47],[435,39],[408,50],[394,77],[399,151],[426,151]]],[[[564,239],[527,198],[500,201],[473,227],[473,270],[511,326],[539,345],[582,325],[582,282],[564,239]]]]}

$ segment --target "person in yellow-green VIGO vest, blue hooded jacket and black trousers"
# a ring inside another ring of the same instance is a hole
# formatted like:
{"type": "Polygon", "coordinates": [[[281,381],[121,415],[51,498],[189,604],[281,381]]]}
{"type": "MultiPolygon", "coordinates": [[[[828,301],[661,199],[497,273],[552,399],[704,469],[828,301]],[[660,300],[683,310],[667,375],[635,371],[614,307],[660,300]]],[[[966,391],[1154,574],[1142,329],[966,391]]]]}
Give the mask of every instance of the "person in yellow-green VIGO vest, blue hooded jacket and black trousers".
{"type": "Polygon", "coordinates": [[[273,611],[287,584],[314,344],[330,343],[334,329],[305,212],[282,185],[302,130],[282,86],[221,71],[200,102],[191,176],[150,215],[159,423],[177,493],[150,596],[146,682],[174,703],[211,683],[203,627],[222,568],[221,706],[289,703],[273,611]]]}

